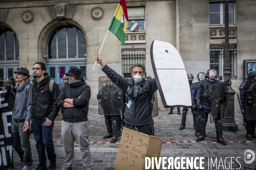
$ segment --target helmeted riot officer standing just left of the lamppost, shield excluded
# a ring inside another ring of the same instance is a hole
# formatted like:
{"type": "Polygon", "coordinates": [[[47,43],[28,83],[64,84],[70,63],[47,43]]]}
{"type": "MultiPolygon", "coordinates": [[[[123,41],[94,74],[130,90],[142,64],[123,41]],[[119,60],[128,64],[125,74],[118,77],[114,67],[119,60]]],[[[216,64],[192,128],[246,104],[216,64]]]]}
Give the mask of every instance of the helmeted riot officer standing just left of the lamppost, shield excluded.
{"type": "MultiPolygon", "coordinates": [[[[196,141],[202,141],[205,138],[204,127],[206,127],[208,115],[211,112],[211,89],[213,85],[221,83],[215,79],[217,77],[217,71],[215,71],[214,69],[209,69],[206,75],[206,78],[209,79],[205,79],[202,82],[196,96],[198,110],[202,111],[199,136],[196,141]]],[[[220,142],[223,145],[227,145],[222,136],[221,119],[215,122],[215,128],[217,142],[220,142]]]]}

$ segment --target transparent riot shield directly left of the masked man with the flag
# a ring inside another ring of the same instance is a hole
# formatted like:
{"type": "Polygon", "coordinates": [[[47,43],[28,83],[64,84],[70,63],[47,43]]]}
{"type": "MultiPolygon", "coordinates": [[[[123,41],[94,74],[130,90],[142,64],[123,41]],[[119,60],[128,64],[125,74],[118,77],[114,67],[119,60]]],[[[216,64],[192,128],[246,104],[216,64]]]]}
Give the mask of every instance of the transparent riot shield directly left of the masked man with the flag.
{"type": "Polygon", "coordinates": [[[108,77],[99,77],[99,114],[122,114],[122,90],[108,77]]]}

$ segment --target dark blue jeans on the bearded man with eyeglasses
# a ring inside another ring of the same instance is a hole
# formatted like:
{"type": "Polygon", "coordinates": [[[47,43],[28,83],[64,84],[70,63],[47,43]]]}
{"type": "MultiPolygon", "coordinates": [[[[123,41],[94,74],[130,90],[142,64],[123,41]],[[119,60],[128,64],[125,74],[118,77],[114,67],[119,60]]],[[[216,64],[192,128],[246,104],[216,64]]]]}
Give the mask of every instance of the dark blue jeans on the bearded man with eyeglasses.
{"type": "Polygon", "coordinates": [[[46,167],[46,155],[50,162],[56,162],[56,154],[52,142],[52,129],[54,121],[51,126],[44,126],[46,119],[39,119],[32,117],[32,129],[35,138],[35,147],[38,151],[39,164],[38,167],[46,167]]]}

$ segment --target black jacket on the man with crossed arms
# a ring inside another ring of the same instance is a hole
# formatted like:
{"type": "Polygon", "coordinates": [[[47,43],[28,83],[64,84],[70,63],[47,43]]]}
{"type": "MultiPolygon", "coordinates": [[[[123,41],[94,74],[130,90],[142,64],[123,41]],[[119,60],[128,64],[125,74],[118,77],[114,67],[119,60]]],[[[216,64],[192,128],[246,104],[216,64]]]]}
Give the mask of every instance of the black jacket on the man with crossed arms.
{"type": "Polygon", "coordinates": [[[64,85],[57,99],[58,106],[62,108],[62,120],[66,122],[87,121],[90,95],[90,86],[86,85],[84,80],[64,85]],[[75,107],[64,108],[64,99],[73,99],[75,107]]]}

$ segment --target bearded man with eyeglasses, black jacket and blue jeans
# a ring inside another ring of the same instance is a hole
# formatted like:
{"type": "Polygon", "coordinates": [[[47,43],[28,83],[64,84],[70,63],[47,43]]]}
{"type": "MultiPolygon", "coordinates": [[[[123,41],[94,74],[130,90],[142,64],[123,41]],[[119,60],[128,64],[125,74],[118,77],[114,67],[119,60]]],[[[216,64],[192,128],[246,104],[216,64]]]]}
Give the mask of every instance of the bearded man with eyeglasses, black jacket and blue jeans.
{"type": "Polygon", "coordinates": [[[35,62],[33,68],[33,106],[32,129],[38,151],[39,164],[35,170],[47,170],[46,155],[50,161],[49,170],[56,168],[56,154],[52,142],[54,119],[60,108],[57,105],[59,96],[58,85],[53,82],[50,89],[50,76],[46,73],[44,62],[35,62]]]}

